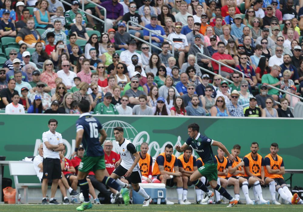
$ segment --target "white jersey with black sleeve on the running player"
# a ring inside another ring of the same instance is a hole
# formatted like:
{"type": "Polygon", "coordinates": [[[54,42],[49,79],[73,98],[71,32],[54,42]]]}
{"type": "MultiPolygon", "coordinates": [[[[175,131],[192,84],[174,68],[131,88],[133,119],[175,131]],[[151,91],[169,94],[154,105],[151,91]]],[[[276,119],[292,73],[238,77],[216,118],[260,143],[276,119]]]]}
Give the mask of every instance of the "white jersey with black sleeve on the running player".
{"type": "MultiPolygon", "coordinates": [[[[118,153],[120,154],[121,157],[120,165],[127,170],[130,169],[130,167],[133,165],[135,161],[135,156],[133,156],[133,153],[136,153],[135,146],[132,144],[132,142],[130,142],[127,139],[124,139],[124,142],[121,145],[119,144],[118,141],[116,141],[116,144],[117,144],[118,153]]],[[[133,171],[138,171],[138,170],[140,170],[139,163],[137,163],[133,171]]]]}

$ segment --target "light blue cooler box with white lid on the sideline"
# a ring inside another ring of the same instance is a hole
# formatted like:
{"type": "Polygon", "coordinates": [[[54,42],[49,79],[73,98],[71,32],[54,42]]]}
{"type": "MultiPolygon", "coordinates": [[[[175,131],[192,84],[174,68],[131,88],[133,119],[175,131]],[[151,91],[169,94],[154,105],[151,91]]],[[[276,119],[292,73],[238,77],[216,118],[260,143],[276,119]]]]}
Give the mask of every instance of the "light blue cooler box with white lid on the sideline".
{"type": "MultiPolygon", "coordinates": [[[[139,183],[153,200],[152,204],[165,204],[166,188],[164,183],[139,183]]],[[[143,204],[144,198],[133,190],[133,204],[143,204]]]]}

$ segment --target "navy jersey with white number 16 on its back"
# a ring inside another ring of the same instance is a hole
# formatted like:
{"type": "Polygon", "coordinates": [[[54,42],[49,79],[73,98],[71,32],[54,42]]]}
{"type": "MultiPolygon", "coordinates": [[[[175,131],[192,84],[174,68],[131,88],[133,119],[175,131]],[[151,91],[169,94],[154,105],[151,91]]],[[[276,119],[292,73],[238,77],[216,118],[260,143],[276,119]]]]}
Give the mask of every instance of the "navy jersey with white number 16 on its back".
{"type": "Polygon", "coordinates": [[[81,114],[76,122],[78,130],[84,130],[82,145],[87,156],[96,157],[104,155],[99,141],[99,130],[102,129],[100,122],[89,113],[81,114]]]}

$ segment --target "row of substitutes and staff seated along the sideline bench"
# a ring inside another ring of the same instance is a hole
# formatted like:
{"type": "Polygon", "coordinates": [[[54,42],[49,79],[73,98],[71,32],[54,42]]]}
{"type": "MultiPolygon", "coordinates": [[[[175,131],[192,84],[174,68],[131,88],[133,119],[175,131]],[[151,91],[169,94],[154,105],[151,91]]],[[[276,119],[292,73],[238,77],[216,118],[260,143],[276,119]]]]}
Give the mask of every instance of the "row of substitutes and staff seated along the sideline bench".
{"type": "MultiPolygon", "coordinates": [[[[45,136],[53,136],[46,134],[45,136]]],[[[55,135],[56,136],[56,135],[55,135]]],[[[120,155],[113,151],[113,143],[110,140],[104,142],[104,155],[106,164],[106,176],[110,176],[114,169],[115,163],[120,160],[120,155]]],[[[59,157],[61,161],[62,178],[59,178],[59,187],[64,197],[63,204],[77,204],[79,192],[77,192],[77,186],[79,186],[77,180],[78,167],[81,162],[81,158],[85,154],[84,147],[79,146],[76,157],[71,160],[66,158],[64,155],[66,151],[62,146],[63,151],[59,151],[59,157]],[[69,190],[70,197],[69,201],[66,189],[69,190]]],[[[204,166],[202,159],[193,156],[193,148],[188,146],[183,154],[176,157],[173,154],[173,146],[167,144],[165,151],[160,153],[156,158],[153,158],[148,154],[148,144],[143,142],[140,146],[140,171],[142,174],[142,183],[164,183],[167,187],[176,186],[178,204],[192,204],[187,199],[188,186],[191,186],[190,176],[197,170],[197,168],[204,166]]],[[[242,158],[239,157],[241,154],[241,146],[236,144],[231,150],[231,154],[236,158],[236,161],[231,163],[228,157],[224,156],[224,151],[220,148],[217,150],[215,156],[217,160],[218,179],[217,183],[222,187],[234,186],[234,195],[238,201],[238,204],[245,204],[240,201],[240,188],[246,199],[246,204],[281,204],[276,200],[276,192],[281,195],[281,198],[288,204],[302,204],[302,200],[291,194],[291,191],[287,187],[284,181],[283,174],[285,173],[284,161],[277,153],[279,147],[277,143],[272,143],[269,154],[262,157],[258,154],[259,145],[253,142],[250,147],[250,151],[247,155],[242,158]],[[271,194],[271,200],[264,200],[262,190],[268,189],[271,194]],[[254,198],[250,198],[248,189],[252,188],[254,198]]],[[[47,151],[47,150],[46,150],[47,151]]],[[[34,168],[37,173],[39,181],[43,182],[43,165],[47,163],[42,162],[43,157],[46,157],[43,152],[43,144],[38,147],[38,155],[34,158],[34,168]]],[[[47,153],[52,154],[51,151],[47,153]]],[[[44,158],[45,158],[44,157],[44,158]]],[[[94,199],[94,204],[115,204],[118,201],[119,194],[116,190],[107,187],[102,182],[99,182],[94,172],[90,171],[87,177],[89,184],[89,193],[94,199]],[[95,189],[99,191],[96,195],[95,189]]],[[[125,184],[131,184],[131,177],[121,177],[120,180],[125,184]]],[[[206,177],[200,179],[205,185],[208,184],[206,177]]],[[[49,185],[52,181],[48,181],[49,185]]],[[[46,182],[47,184],[47,182],[46,182]]],[[[45,184],[45,185],[46,185],[45,184]]],[[[43,184],[42,184],[43,185],[43,184]]],[[[209,185],[209,184],[208,184],[209,185]]],[[[47,187],[45,187],[47,189],[47,187]]],[[[43,192],[43,187],[42,187],[43,192]]],[[[52,190],[52,195],[54,196],[52,190]]],[[[195,189],[197,204],[212,204],[212,202],[203,202],[204,193],[198,187],[195,189]]],[[[43,194],[42,204],[47,204],[46,190],[43,194]]],[[[130,196],[132,194],[130,193],[130,196]]],[[[219,192],[215,191],[215,202],[216,204],[225,204],[224,198],[219,192]]],[[[244,197],[242,197],[242,200],[244,197]]],[[[132,200],[130,200],[132,201],[132,200]]],[[[50,204],[59,204],[56,199],[51,198],[50,204]]],[[[174,202],[165,198],[166,204],[174,204],[174,202]]],[[[194,204],[195,204],[194,203],[194,204]]]]}

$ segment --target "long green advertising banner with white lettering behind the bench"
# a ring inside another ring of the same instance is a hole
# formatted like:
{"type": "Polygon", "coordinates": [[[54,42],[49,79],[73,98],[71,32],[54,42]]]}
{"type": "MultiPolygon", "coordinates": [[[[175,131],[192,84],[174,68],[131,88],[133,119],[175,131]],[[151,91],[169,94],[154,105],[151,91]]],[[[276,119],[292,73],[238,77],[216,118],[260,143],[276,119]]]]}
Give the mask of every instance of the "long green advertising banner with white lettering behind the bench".
{"type": "MultiPolygon", "coordinates": [[[[164,151],[166,144],[183,144],[187,138],[187,126],[196,122],[200,133],[222,142],[230,151],[234,144],[241,145],[241,154],[250,152],[251,142],[259,143],[258,153],[265,157],[270,153],[270,144],[279,144],[278,154],[283,157],[285,169],[303,169],[303,142],[301,135],[302,119],[263,119],[263,118],[213,118],[213,117],[142,117],[96,115],[106,130],[107,139],[115,141],[113,128],[124,128],[124,137],[130,139],[140,151],[140,144],[149,144],[153,157],[164,151]]],[[[67,157],[75,147],[76,120],[78,115],[6,115],[0,114],[0,155],[6,160],[22,160],[37,154],[42,142],[42,133],[48,131],[50,118],[58,120],[57,131],[62,134],[67,146],[67,157]]],[[[114,149],[116,143],[114,143],[114,149]]],[[[217,154],[217,148],[213,148],[217,154]]],[[[174,154],[179,156],[176,150],[174,154]]],[[[5,177],[9,177],[8,168],[5,177]]],[[[284,175],[287,179],[289,174],[284,175]]],[[[303,185],[301,174],[295,174],[293,185],[303,185]]],[[[34,179],[36,181],[36,179],[34,179]]]]}

